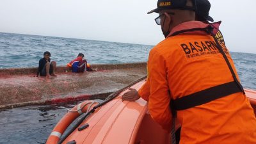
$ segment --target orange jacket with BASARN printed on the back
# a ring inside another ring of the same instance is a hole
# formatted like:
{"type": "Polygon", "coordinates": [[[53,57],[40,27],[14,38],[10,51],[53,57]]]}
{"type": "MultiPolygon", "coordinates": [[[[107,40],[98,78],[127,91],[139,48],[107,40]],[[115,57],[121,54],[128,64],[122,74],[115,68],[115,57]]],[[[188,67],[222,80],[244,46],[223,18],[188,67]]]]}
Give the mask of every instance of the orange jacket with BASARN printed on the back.
{"type": "MultiPolygon", "coordinates": [[[[206,26],[197,21],[184,22],[173,28],[170,35],[182,29],[206,26]]],[[[191,31],[166,38],[150,51],[148,81],[139,94],[150,94],[150,115],[167,131],[172,124],[171,98],[175,100],[234,81],[215,45],[211,35],[191,31]],[[143,92],[147,86],[150,92],[143,92]]],[[[236,72],[227,48],[222,47],[236,72]]],[[[250,102],[241,92],[177,111],[177,118],[182,125],[180,144],[256,143],[256,118],[250,102]]]]}

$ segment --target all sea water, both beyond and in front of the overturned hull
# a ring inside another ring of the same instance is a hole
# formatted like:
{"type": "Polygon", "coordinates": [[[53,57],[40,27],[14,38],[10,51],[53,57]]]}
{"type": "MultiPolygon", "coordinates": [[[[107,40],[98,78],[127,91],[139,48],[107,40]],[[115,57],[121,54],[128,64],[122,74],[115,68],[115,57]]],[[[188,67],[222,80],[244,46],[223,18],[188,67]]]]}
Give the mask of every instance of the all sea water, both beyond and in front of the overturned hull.
{"type": "MultiPolygon", "coordinates": [[[[154,46],[0,33],[0,68],[38,67],[44,51],[51,52],[51,59],[58,65],[66,65],[79,52],[85,54],[88,63],[147,61],[152,47],[154,46]]],[[[243,86],[256,90],[256,54],[230,53],[243,86]]],[[[45,143],[54,125],[73,106],[27,106],[0,111],[0,144],[45,143]]]]}

